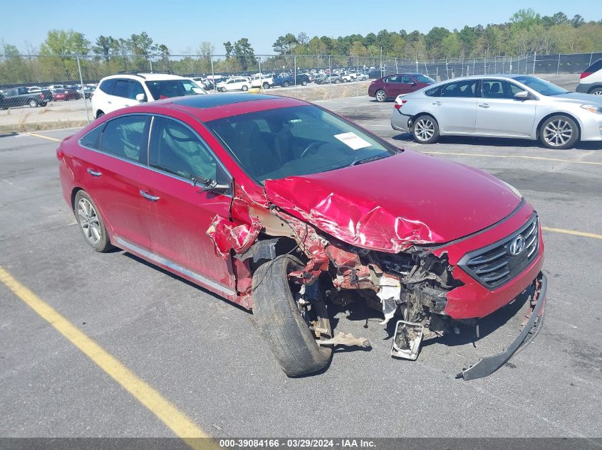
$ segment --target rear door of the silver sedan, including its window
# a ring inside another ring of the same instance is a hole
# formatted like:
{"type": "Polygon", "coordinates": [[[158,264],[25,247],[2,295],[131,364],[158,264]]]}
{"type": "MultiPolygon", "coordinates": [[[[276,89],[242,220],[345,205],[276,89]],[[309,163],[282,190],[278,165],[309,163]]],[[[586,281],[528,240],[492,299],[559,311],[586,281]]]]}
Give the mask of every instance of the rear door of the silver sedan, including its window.
{"type": "Polygon", "coordinates": [[[438,89],[438,96],[429,97],[429,109],[435,114],[442,132],[474,133],[478,86],[479,80],[450,82],[438,89]]]}

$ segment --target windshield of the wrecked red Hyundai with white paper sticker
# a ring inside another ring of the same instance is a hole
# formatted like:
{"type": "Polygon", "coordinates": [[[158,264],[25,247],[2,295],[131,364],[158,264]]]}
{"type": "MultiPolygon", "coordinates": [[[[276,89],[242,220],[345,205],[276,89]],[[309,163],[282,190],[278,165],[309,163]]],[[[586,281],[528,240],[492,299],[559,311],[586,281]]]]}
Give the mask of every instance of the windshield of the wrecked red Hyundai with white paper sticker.
{"type": "Polygon", "coordinates": [[[206,123],[258,183],[386,158],[398,150],[313,105],[206,123]]]}

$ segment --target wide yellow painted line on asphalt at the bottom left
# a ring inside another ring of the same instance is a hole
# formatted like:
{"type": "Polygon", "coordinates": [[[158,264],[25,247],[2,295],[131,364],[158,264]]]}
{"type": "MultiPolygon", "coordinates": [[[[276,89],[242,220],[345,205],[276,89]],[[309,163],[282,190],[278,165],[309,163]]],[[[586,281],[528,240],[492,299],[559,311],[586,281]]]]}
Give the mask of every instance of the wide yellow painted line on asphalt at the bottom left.
{"type": "Polygon", "coordinates": [[[214,441],[204,441],[198,438],[209,437],[174,405],[142,381],[119,360],[107,353],[100,345],[88,338],[76,326],[61,316],[50,305],[46,304],[26,286],[19,283],[9,272],[0,267],[0,282],[4,283],[16,296],[27,304],[33,311],[50,323],[65,336],[73,345],[88,356],[94,363],[118,382],[125,390],[147,407],[172,432],[180,437],[192,449],[201,450],[214,447],[214,441]]]}

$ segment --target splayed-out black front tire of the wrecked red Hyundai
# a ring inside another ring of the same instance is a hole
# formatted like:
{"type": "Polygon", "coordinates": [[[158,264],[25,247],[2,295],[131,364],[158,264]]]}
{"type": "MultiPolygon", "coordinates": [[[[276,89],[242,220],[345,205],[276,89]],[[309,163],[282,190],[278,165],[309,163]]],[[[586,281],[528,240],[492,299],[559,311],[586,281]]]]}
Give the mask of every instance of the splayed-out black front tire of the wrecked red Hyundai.
{"type": "MultiPolygon", "coordinates": [[[[266,262],[253,274],[253,314],[261,335],[274,358],[289,377],[307,375],[326,368],[332,348],[319,346],[294,299],[288,274],[303,268],[299,259],[281,255],[266,262]]],[[[318,283],[318,281],[316,281],[318,283]]],[[[323,297],[311,307],[321,328],[332,334],[323,297]]]]}

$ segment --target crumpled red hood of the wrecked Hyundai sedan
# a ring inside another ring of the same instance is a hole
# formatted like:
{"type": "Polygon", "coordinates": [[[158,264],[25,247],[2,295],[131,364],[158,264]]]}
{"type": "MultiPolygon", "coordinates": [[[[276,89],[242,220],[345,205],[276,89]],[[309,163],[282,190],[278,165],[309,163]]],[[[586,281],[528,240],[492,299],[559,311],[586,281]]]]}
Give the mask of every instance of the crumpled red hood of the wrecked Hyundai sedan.
{"type": "Polygon", "coordinates": [[[266,180],[274,205],[351,245],[400,252],[470,235],[520,198],[475,168],[414,151],[358,166],[266,180]]]}

